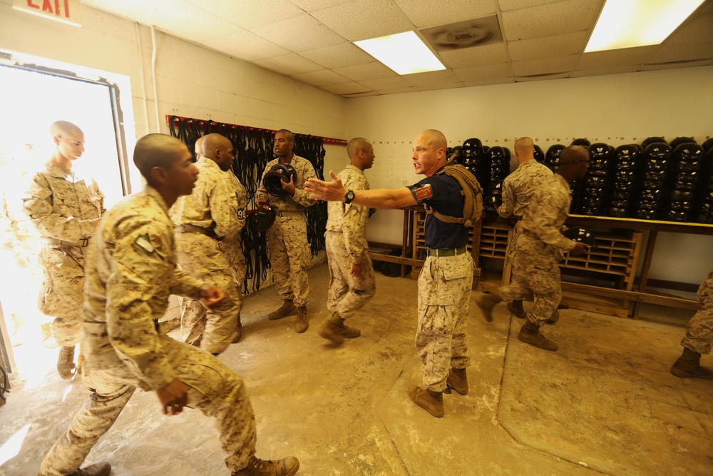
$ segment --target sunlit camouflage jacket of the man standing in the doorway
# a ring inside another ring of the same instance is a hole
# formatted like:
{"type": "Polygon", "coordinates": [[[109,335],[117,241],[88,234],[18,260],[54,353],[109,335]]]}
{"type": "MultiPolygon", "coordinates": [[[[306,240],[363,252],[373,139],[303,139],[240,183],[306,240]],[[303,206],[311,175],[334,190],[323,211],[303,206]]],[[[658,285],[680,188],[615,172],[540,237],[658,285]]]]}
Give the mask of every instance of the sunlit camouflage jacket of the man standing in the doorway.
{"type": "Polygon", "coordinates": [[[48,162],[32,178],[23,208],[41,236],[78,241],[94,234],[104,196],[93,179],[87,184],[73,171],[48,162]]]}

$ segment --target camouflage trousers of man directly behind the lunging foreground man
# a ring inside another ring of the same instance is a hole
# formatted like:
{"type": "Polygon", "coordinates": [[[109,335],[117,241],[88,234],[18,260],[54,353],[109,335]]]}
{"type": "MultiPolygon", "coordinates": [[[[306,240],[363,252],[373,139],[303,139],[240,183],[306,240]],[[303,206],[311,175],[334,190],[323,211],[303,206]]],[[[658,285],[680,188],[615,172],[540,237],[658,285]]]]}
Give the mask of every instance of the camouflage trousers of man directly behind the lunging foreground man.
{"type": "Polygon", "coordinates": [[[221,303],[207,308],[200,300],[183,298],[181,335],[188,344],[200,339],[200,348],[221,353],[230,345],[242,308],[242,294],[235,287],[230,263],[218,242],[200,233],[178,233],[176,256],[181,269],[225,292],[221,303]]]}

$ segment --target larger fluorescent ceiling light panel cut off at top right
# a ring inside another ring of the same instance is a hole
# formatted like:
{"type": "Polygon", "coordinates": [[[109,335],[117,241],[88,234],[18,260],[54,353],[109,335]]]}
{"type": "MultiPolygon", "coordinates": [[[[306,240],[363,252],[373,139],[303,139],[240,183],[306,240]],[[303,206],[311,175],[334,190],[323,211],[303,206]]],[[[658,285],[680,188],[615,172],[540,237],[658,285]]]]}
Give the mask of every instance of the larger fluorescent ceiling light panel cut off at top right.
{"type": "Polygon", "coordinates": [[[657,45],[704,0],[607,0],[585,53],[657,45]]]}

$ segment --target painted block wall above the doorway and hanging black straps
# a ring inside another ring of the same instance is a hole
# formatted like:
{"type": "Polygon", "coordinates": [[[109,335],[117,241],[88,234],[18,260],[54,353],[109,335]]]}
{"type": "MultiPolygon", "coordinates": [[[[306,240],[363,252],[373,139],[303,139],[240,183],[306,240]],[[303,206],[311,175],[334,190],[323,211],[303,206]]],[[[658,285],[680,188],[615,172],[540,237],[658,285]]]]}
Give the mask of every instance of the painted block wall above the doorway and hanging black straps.
{"type": "MultiPolygon", "coordinates": [[[[169,132],[167,114],[344,138],[346,101],[341,96],[160,31],[155,32],[157,128],[148,26],[82,6],[83,26],[76,28],[16,11],[11,4],[0,0],[0,51],[39,56],[46,66],[98,70],[120,83],[129,157],[135,138],[169,132]]],[[[327,153],[341,149],[327,146],[327,153]]],[[[135,184],[133,166],[132,172],[135,184]]]]}

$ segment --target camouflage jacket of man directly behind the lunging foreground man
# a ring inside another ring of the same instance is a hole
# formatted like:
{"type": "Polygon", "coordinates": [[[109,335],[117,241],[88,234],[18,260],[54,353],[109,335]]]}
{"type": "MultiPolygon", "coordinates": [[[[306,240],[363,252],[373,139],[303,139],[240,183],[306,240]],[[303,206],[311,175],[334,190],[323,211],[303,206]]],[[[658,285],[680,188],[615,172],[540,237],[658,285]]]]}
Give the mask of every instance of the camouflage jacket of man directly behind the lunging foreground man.
{"type": "Polygon", "coordinates": [[[199,173],[193,193],[178,197],[169,211],[171,220],[176,226],[193,225],[212,230],[218,239],[235,237],[245,225],[245,207],[241,215],[230,177],[235,175],[222,171],[207,157],[199,158],[195,166],[199,173]]]}

